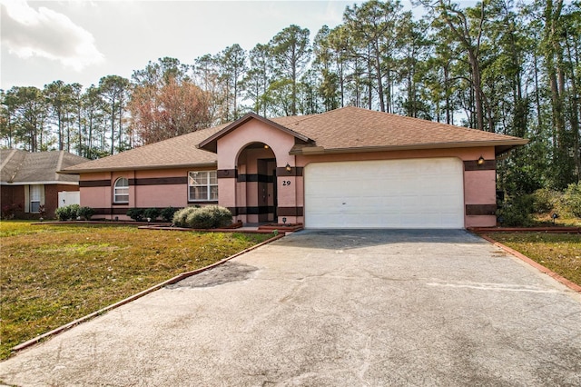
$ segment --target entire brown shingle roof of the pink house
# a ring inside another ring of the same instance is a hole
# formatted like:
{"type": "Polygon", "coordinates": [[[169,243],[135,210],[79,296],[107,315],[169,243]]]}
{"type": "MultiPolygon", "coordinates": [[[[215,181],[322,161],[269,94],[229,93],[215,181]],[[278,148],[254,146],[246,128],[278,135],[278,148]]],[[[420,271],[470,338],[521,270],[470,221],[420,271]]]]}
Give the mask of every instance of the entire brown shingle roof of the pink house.
{"type": "Polygon", "coordinates": [[[354,153],[395,149],[495,146],[497,154],[527,140],[418,118],[343,107],[323,114],[266,119],[246,114],[230,123],[66,168],[64,174],[215,165],[216,142],[251,119],[272,122],[297,137],[291,154],[354,153]],[[200,148],[198,147],[200,146],[200,148]]]}

